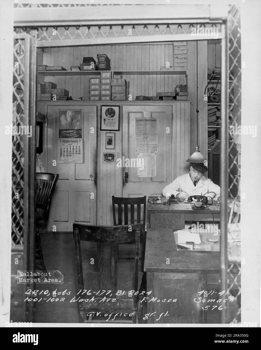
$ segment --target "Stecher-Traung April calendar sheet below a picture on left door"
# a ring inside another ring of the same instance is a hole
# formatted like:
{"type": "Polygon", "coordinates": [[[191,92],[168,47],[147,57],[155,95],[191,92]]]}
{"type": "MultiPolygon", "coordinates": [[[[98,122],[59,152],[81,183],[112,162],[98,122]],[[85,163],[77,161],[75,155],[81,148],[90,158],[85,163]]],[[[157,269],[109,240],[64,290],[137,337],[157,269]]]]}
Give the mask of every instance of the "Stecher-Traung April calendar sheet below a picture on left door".
{"type": "Polygon", "coordinates": [[[82,139],[58,139],[58,163],[82,163],[82,139]]]}

